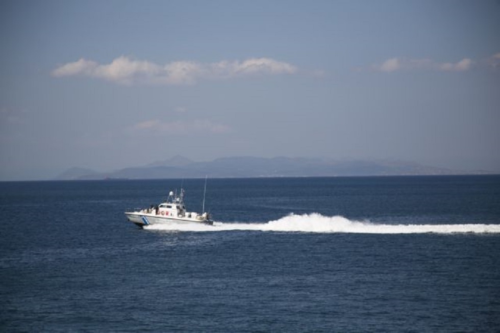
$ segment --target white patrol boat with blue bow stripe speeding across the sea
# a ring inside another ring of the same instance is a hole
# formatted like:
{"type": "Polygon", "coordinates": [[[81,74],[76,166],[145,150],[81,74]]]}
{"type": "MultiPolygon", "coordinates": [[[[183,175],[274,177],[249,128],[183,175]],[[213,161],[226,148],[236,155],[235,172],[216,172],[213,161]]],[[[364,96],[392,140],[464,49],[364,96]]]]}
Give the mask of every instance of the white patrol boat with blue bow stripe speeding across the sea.
{"type": "MultiPolygon", "coordinates": [[[[205,199],[203,200],[203,210],[205,210],[205,199]]],[[[180,195],[170,191],[167,200],[158,206],[151,206],[136,212],[125,212],[125,215],[129,221],[140,227],[164,223],[204,223],[210,225],[214,223],[206,212],[198,214],[186,211],[183,189],[181,189],[180,195]]]]}

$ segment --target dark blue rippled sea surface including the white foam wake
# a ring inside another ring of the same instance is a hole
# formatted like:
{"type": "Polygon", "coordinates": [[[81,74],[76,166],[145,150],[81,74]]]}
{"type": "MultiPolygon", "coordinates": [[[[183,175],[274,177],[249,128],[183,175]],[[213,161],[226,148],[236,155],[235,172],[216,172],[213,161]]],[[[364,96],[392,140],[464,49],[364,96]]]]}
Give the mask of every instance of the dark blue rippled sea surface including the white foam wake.
{"type": "Polygon", "coordinates": [[[500,331],[500,176],[0,183],[0,331],[500,331]]]}

